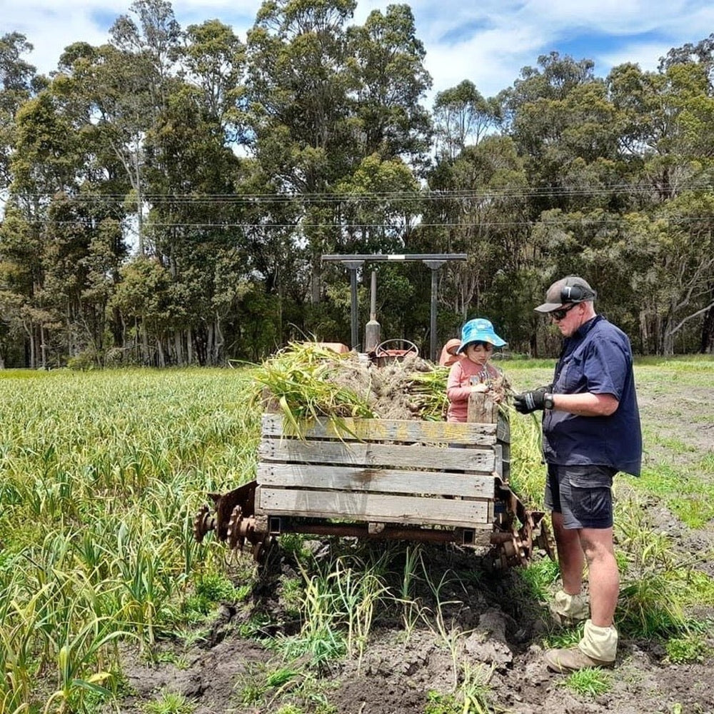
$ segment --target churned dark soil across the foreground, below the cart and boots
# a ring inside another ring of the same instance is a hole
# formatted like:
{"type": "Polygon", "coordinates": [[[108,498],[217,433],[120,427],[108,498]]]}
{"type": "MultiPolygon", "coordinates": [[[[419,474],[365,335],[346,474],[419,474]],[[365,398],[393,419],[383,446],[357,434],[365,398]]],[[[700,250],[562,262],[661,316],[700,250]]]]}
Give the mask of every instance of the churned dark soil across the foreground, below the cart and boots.
{"type": "MultiPolygon", "coordinates": [[[[341,552],[351,544],[341,543],[341,552]]],[[[353,545],[364,556],[362,545],[353,545]]],[[[395,548],[395,572],[400,549],[395,548]]],[[[339,714],[423,714],[433,693],[448,698],[456,687],[455,662],[468,663],[487,684],[487,711],[513,714],[714,713],[714,661],[674,665],[655,640],[620,639],[617,666],[608,674],[610,689],[599,696],[577,695],[563,686],[563,675],[550,673],[543,662],[543,636],[553,631],[542,603],[534,602],[516,570],[490,573],[481,560],[453,546],[428,546],[425,562],[434,582],[446,583],[441,592],[442,622],[451,633],[448,642],[433,618],[433,593],[423,593],[425,618],[406,633],[399,613],[376,614],[376,623],[363,656],[311,670],[309,661],[284,663],[272,650],[238,635],[241,623],[256,609],[271,611],[274,622],[284,621],[278,600],[254,601],[242,610],[224,607],[206,642],[184,650],[164,645],[169,663],[131,663],[126,676],[134,695],[121,711],[143,711],[147,702],[166,691],[183,694],[196,705],[196,714],[223,712],[268,714],[291,701],[289,690],[268,690],[260,703],[242,703],[251,685],[264,683],[266,674],[281,667],[303,668],[319,680],[319,691],[339,714]],[[458,578],[456,576],[458,575],[458,578]],[[466,577],[465,577],[466,576],[466,577]],[[448,578],[452,578],[448,580],[448,578]],[[274,699],[273,699],[274,697],[274,699]]],[[[247,557],[247,556],[246,556],[247,557]]],[[[283,560],[284,571],[292,573],[283,560]]],[[[278,592],[278,580],[273,580],[278,592]]],[[[713,616],[702,612],[700,616],[713,616]]],[[[287,628],[290,631],[290,628],[287,628]]],[[[273,634],[275,630],[273,630],[273,634]]],[[[710,638],[714,646],[714,637],[710,638]]],[[[314,688],[311,688],[314,690],[314,688]]],[[[446,700],[446,699],[445,699],[446,700]]],[[[320,712],[316,703],[296,693],[288,711],[320,712]]],[[[461,713],[461,708],[432,711],[461,713]]],[[[476,708],[468,711],[478,713],[476,708]]]]}

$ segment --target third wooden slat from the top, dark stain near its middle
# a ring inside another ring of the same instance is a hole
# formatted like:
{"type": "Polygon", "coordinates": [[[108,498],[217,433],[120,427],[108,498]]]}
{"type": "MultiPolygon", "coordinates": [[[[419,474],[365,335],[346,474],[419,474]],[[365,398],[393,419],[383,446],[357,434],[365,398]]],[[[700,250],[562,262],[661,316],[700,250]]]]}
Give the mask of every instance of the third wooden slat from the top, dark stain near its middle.
{"type": "Polygon", "coordinates": [[[351,466],[258,463],[258,486],[494,498],[496,478],[483,474],[394,471],[351,466]]]}

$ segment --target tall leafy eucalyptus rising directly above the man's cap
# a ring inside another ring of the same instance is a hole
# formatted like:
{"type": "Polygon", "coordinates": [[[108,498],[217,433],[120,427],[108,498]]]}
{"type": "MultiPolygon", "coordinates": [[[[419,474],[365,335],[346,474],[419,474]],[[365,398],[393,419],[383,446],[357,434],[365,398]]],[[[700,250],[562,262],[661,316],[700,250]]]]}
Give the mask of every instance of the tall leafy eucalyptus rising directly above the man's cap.
{"type": "MultiPolygon", "coordinates": [[[[504,128],[528,176],[528,260],[518,278],[535,299],[563,273],[586,273],[594,283],[618,274],[613,226],[637,204],[623,191],[633,166],[622,153],[623,112],[608,89],[592,61],[552,52],[501,94],[504,128]]],[[[535,353],[548,334],[543,323],[529,328],[535,353]]]]}

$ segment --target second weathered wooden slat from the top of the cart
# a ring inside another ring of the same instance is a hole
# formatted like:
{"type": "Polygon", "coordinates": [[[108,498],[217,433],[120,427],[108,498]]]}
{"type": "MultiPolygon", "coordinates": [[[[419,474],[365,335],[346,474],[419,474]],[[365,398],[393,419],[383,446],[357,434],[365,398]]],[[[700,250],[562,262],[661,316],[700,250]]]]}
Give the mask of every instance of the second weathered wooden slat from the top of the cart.
{"type": "Polygon", "coordinates": [[[491,473],[496,468],[493,447],[439,448],[400,444],[315,441],[308,439],[263,438],[258,448],[261,461],[351,464],[353,466],[394,466],[398,468],[445,468],[491,473]]]}

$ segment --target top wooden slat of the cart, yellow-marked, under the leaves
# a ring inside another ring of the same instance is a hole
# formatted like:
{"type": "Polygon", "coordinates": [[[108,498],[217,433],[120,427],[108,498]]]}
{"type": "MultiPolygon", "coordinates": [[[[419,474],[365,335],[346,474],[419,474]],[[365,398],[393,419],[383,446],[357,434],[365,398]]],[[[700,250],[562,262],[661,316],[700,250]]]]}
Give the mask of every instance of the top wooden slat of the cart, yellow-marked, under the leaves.
{"type": "MultiPolygon", "coordinates": [[[[302,436],[342,441],[404,441],[490,446],[496,443],[496,429],[496,424],[352,418],[334,421],[320,418],[306,423],[302,436]]],[[[289,434],[289,428],[283,430],[283,417],[280,414],[263,413],[263,436],[289,434]]]]}

